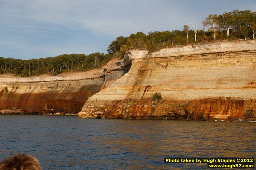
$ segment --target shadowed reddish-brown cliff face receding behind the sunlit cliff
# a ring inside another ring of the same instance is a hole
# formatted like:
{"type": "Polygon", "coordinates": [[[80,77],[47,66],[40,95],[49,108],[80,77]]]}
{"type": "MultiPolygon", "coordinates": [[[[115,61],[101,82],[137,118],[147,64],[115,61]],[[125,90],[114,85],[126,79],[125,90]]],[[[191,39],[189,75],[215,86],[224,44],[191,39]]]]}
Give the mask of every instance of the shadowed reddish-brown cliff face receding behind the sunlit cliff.
{"type": "Polygon", "coordinates": [[[77,114],[91,96],[130,69],[128,57],[104,68],[58,76],[0,77],[0,114],[77,114]],[[89,94],[88,94],[89,93],[89,94]]]}

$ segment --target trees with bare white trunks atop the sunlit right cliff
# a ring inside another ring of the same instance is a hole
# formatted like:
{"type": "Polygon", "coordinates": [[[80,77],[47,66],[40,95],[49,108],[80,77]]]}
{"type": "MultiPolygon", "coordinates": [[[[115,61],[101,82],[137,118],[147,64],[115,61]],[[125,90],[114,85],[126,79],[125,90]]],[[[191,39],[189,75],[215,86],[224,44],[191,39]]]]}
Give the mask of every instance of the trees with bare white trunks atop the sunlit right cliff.
{"type": "Polygon", "coordinates": [[[213,40],[254,39],[256,34],[256,12],[234,10],[223,14],[209,14],[201,21],[203,30],[198,30],[198,23],[191,22],[183,30],[143,32],[128,37],[119,36],[112,41],[107,51],[110,54],[123,55],[128,50],[146,49],[154,52],[161,48],[213,40]]]}

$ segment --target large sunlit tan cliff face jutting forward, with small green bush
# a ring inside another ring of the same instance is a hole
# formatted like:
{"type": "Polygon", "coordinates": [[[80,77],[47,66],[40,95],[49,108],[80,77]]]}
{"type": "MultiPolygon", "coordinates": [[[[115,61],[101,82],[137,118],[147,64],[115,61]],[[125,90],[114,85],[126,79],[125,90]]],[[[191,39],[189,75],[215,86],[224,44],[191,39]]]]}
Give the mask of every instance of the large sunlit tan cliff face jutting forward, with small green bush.
{"type": "Polygon", "coordinates": [[[91,96],[79,118],[256,120],[256,41],[127,56],[129,72],[91,96]]]}

